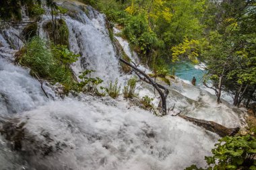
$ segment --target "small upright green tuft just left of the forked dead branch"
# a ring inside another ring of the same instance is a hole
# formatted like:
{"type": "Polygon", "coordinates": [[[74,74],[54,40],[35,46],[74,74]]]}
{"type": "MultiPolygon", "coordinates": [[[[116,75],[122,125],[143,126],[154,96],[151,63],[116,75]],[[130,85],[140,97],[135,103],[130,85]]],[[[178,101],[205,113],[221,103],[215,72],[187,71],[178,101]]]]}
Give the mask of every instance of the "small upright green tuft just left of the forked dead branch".
{"type": "Polygon", "coordinates": [[[136,84],[137,84],[137,79],[135,77],[132,77],[131,79],[129,79],[127,85],[123,88],[123,97],[125,97],[125,99],[133,98],[137,95],[135,93],[136,84]]]}

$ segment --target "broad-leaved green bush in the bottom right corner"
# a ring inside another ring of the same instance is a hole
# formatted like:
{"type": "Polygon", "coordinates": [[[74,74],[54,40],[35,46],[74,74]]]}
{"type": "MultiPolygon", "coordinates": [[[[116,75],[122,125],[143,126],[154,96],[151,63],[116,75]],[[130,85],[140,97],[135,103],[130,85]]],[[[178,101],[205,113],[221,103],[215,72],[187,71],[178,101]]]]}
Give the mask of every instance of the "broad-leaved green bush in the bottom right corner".
{"type": "MultiPolygon", "coordinates": [[[[247,136],[226,136],[221,138],[216,148],[212,149],[214,156],[205,157],[207,169],[256,169],[256,138],[247,136]]],[[[191,165],[186,170],[198,168],[191,165]]],[[[203,170],[202,168],[200,168],[203,170]]]]}

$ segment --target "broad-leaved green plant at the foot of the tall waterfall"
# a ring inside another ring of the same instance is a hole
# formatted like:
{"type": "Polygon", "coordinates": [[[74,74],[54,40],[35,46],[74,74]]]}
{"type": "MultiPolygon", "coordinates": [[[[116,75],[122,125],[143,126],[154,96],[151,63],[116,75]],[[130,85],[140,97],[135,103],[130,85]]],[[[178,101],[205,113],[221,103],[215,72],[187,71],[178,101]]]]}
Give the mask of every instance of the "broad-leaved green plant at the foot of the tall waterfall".
{"type": "Polygon", "coordinates": [[[91,76],[91,73],[94,72],[94,70],[86,70],[78,76],[79,79],[81,79],[81,81],[78,83],[78,91],[88,91],[90,93],[96,93],[97,95],[101,95],[101,93],[97,89],[97,86],[100,85],[103,80],[99,77],[93,78],[91,76]]]}

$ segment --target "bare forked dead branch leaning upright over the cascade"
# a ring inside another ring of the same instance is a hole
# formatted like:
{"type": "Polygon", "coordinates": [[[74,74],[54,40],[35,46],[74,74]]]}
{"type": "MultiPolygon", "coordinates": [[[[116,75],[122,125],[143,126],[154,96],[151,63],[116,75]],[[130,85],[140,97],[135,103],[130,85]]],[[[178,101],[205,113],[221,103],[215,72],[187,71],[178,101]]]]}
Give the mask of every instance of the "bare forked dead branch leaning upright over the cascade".
{"type": "Polygon", "coordinates": [[[139,77],[139,79],[141,79],[142,81],[145,81],[146,83],[149,83],[150,85],[153,85],[153,87],[156,89],[156,91],[158,91],[158,93],[161,97],[160,105],[162,105],[162,115],[166,115],[167,114],[166,97],[169,93],[168,89],[166,89],[166,87],[164,87],[163,85],[160,85],[160,84],[156,83],[155,81],[153,81],[149,75],[147,75],[146,73],[144,73],[143,71],[138,69],[137,65],[131,65],[130,62],[127,62],[123,58],[119,58],[119,60],[121,62],[125,63],[125,65],[128,65],[129,67],[131,67],[133,69],[133,71],[135,72],[135,74],[139,77]],[[161,89],[163,89],[164,92],[161,89]]]}

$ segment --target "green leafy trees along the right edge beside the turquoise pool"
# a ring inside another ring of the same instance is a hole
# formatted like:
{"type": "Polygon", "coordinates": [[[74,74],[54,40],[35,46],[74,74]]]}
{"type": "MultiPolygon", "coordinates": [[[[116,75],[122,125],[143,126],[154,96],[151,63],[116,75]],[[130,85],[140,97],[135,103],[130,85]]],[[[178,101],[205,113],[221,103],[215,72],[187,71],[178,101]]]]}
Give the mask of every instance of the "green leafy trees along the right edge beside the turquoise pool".
{"type": "Polygon", "coordinates": [[[207,61],[205,77],[214,88],[228,91],[234,105],[244,103],[248,107],[255,101],[256,90],[256,29],[251,27],[256,22],[255,3],[225,1],[217,7],[212,23],[218,24],[209,32],[202,54],[207,61]]]}

